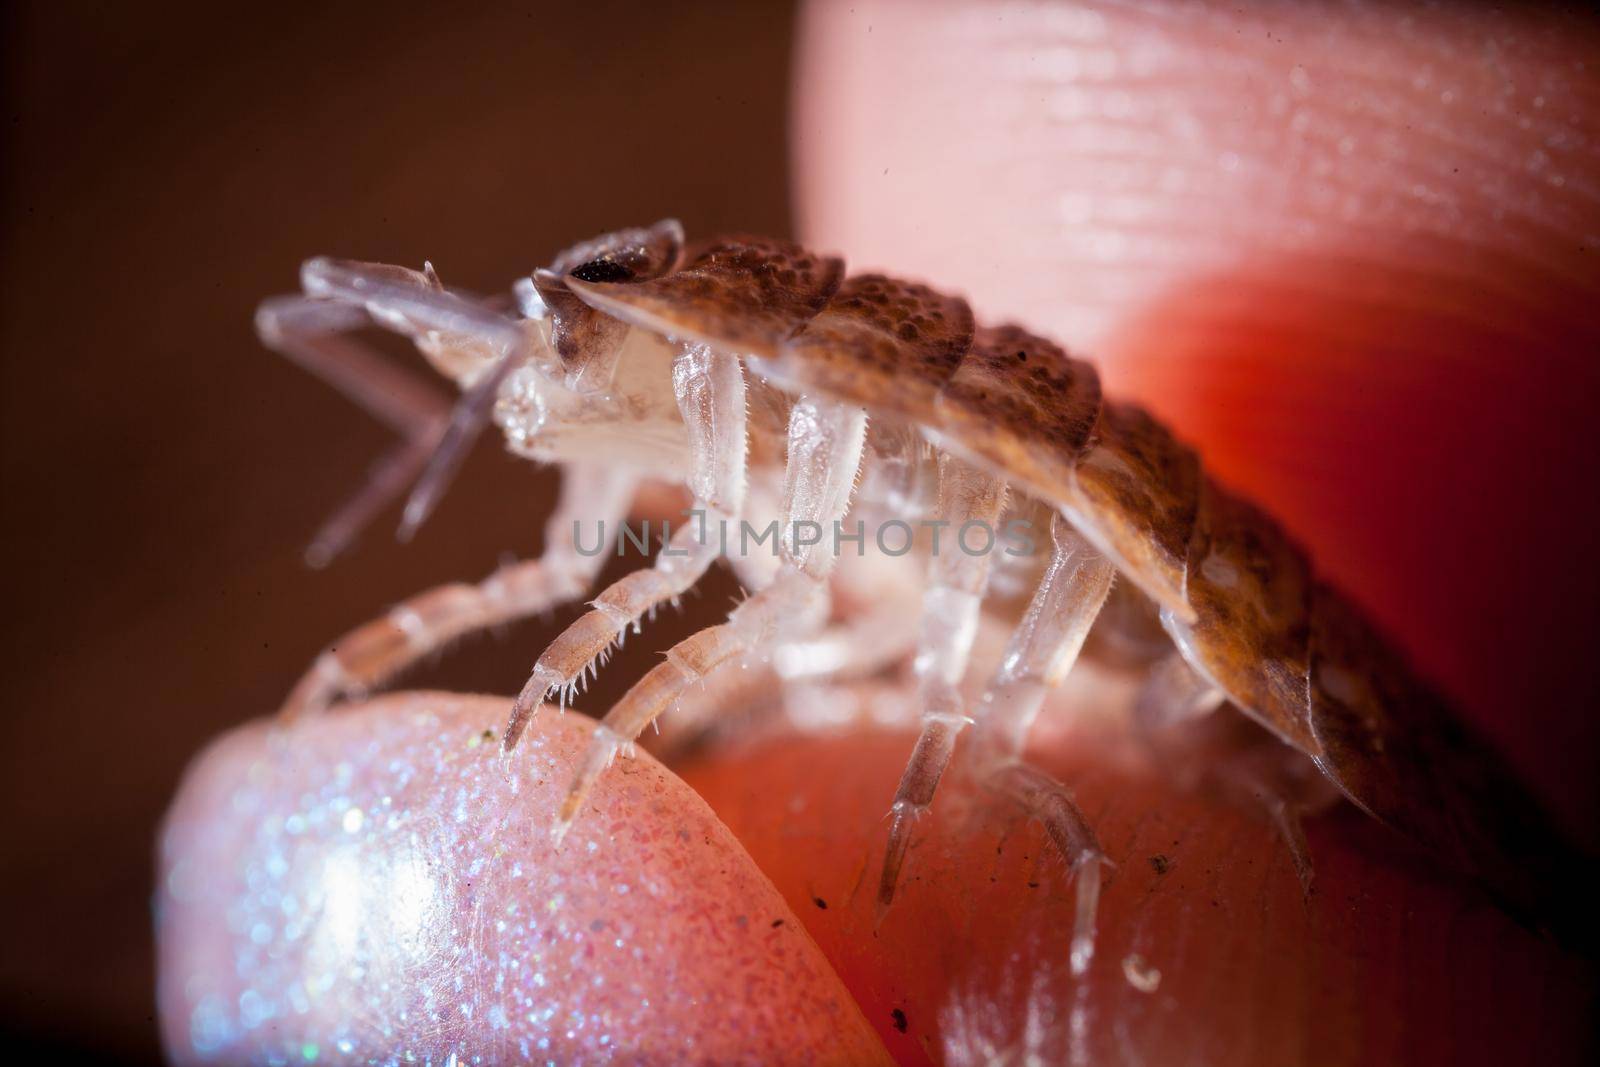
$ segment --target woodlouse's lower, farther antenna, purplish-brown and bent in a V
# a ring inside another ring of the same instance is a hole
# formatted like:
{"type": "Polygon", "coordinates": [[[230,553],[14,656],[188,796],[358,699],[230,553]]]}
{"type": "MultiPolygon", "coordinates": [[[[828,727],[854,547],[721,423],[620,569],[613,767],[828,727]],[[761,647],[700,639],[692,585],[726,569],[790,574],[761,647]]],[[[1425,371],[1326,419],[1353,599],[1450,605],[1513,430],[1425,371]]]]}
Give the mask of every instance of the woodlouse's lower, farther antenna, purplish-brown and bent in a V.
{"type": "Polygon", "coordinates": [[[373,325],[350,304],[282,296],[256,310],[261,341],[328,382],[403,438],[374,467],[362,490],[317,531],[306,561],[326,566],[390,501],[405,493],[450,424],[450,402],[421,379],[344,336],[373,325]]]}

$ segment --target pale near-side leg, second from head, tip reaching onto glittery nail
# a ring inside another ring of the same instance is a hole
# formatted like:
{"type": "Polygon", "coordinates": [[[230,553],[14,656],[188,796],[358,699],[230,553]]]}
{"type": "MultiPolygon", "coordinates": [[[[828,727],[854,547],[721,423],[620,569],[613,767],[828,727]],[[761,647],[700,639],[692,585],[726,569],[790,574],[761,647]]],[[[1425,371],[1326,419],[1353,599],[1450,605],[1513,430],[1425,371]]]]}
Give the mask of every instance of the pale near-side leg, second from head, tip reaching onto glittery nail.
{"type": "Polygon", "coordinates": [[[667,657],[600,720],[562,803],[557,840],[566,833],[618,752],[629,749],[645,726],[691,685],[730,661],[766,649],[790,633],[803,633],[827,617],[827,576],[835,553],[834,545],[824,547],[826,534],[821,531],[837,531],[850,507],[866,427],[867,418],[859,408],[818,403],[808,397],[795,402],[789,416],[779,537],[782,566],[778,577],[734,608],[726,622],[674,645],[667,657]],[[811,533],[819,534],[816,541],[811,533]]]}

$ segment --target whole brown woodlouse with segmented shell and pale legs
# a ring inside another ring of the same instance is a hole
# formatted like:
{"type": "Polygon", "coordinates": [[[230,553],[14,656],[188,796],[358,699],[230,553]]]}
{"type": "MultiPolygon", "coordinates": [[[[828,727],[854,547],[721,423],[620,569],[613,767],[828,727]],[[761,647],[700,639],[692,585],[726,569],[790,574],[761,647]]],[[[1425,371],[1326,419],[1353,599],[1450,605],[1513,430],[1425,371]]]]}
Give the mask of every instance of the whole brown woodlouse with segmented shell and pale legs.
{"type": "Polygon", "coordinates": [[[666,478],[686,486],[704,522],[680,526],[654,566],[603,590],[539,656],[506,728],[507,752],[549,694],[570,691],[629,627],[706,573],[722,552],[707,533],[717,520],[776,514],[781,550],[730,558],[752,595],[675,645],[610,710],[562,825],[619,749],[725,664],[803,662],[822,648],[811,662],[832,670],[914,651],[922,734],[894,800],[880,901],[894,893],[957,736],[974,723],[976,781],[1045,822],[1091,921],[1094,833],[1022,747],[1120,574],[1158,606],[1176,649],[1152,669],[1142,707],[1176,718],[1226,697],[1373,816],[1514,901],[1539,893],[1554,853],[1538,809],[1493,755],[1270,518],[1218,486],[1142,410],[1104,398],[1094,370],[1050,341],[978,326],[957,296],[846,277],[842,261],[784,242],[731,237],[685,250],[670,221],[563,253],[517,283],[518,314],[445,290],[432,267],[314,259],[302,286],[304,296],[262,306],[262,338],[405,435],[318,536],[315,557],[342,547],[421,474],[403,525],[414,528],[491,418],[514,451],[563,464],[566,477],[542,558],[429,590],[346,635],[286,715],[365,693],[461,633],[582,597],[600,557],[576,550],[574,520],[614,530],[640,480],[666,478]],[[342,336],[365,323],[413,338],[462,384],[453,414],[342,336]],[[918,488],[928,485],[936,493],[918,488]],[[827,629],[835,557],[795,530],[829,530],[853,493],[952,528],[997,523],[1008,509],[1050,515],[1048,565],[976,705],[958,683],[990,557],[928,555],[920,625],[899,627],[898,643],[827,629]]]}

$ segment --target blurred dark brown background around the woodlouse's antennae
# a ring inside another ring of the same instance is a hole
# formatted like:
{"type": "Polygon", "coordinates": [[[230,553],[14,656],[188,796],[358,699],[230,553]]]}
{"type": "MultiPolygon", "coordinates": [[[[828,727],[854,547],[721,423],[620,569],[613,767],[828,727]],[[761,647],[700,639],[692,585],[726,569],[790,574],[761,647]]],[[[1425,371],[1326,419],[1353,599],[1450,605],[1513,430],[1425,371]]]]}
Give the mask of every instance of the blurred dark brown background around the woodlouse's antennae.
{"type": "MultiPolygon", "coordinates": [[[[0,1029],[13,1051],[155,1061],[152,848],[184,763],[270,712],[346,627],[534,552],[554,488],[486,435],[414,544],[389,515],[306,569],[389,437],[256,342],[256,301],[315,253],[427,258],[498,291],[666,214],[786,234],[792,13],[38,3],[3,19],[0,1029]]],[[[562,621],[411,681],[512,691],[562,621]]]]}

